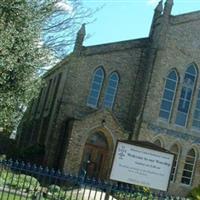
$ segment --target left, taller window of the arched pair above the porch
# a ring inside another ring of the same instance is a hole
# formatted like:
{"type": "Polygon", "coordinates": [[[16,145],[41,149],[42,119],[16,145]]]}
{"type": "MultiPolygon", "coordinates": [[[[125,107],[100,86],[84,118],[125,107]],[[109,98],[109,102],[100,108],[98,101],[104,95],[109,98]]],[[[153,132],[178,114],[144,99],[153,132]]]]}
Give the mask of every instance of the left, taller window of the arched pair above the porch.
{"type": "Polygon", "coordinates": [[[93,75],[91,88],[87,99],[88,106],[93,108],[97,107],[103,80],[104,80],[104,70],[102,67],[99,67],[95,70],[93,75]]]}

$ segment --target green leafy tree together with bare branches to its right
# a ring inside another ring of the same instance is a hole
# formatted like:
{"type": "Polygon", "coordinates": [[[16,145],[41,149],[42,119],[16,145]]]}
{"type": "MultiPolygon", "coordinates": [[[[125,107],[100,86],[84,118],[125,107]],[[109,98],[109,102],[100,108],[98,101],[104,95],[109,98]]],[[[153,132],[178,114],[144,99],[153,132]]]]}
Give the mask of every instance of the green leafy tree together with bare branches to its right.
{"type": "Polygon", "coordinates": [[[16,127],[37,94],[39,70],[66,55],[89,15],[80,0],[1,0],[0,127],[16,127]]]}

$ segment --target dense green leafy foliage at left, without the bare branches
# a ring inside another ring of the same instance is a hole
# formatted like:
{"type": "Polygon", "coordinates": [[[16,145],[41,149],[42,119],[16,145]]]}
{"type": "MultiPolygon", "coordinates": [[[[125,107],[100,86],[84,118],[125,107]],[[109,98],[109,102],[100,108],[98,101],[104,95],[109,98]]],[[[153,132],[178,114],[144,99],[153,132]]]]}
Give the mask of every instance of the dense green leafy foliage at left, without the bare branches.
{"type": "Polygon", "coordinates": [[[1,1],[0,126],[4,130],[9,130],[23,112],[28,97],[34,94],[31,85],[36,85],[37,70],[45,64],[47,50],[37,45],[38,22],[46,15],[44,6],[38,10],[34,1],[1,1]]]}

